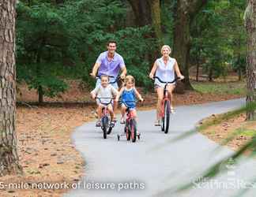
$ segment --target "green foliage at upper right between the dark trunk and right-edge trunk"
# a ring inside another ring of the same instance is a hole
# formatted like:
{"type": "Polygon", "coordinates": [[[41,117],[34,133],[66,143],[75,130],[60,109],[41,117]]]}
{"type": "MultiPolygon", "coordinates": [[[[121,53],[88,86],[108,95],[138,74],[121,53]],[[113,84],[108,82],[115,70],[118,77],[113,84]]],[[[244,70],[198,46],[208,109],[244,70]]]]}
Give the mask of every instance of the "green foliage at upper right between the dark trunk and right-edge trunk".
{"type": "Polygon", "coordinates": [[[232,68],[245,71],[245,4],[243,0],[210,1],[192,24],[192,60],[204,62],[205,72],[212,72],[215,77],[225,76],[232,68]]]}

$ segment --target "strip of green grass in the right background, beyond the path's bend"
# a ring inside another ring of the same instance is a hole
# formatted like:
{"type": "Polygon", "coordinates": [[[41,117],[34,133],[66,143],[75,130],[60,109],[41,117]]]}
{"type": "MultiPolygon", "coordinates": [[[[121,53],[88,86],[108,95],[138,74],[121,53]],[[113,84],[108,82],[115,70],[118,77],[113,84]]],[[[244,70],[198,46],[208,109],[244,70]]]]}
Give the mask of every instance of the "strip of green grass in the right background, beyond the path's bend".
{"type": "Polygon", "coordinates": [[[196,91],[201,93],[246,95],[246,84],[243,81],[237,82],[192,82],[196,91]]]}

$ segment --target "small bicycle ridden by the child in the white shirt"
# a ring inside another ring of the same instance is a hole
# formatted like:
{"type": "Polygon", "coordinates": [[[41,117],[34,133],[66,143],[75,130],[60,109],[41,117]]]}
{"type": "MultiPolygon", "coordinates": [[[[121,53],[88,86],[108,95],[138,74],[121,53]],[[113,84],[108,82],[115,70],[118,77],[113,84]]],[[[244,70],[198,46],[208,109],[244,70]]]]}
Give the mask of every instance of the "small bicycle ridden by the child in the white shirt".
{"type": "Polygon", "coordinates": [[[100,103],[104,105],[104,108],[102,109],[102,117],[100,118],[100,127],[104,133],[104,139],[107,139],[107,135],[111,134],[112,128],[115,127],[115,124],[111,124],[111,118],[109,111],[107,110],[107,106],[109,104],[112,104],[113,98],[109,97],[96,97],[95,99],[99,99],[100,103]],[[111,99],[110,102],[101,102],[100,99],[111,99]]]}

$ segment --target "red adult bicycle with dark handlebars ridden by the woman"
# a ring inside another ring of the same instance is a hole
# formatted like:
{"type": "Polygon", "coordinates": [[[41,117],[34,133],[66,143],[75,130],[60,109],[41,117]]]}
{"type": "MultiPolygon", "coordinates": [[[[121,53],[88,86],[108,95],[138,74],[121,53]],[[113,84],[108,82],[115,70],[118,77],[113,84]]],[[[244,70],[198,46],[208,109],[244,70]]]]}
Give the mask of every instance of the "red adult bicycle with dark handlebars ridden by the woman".
{"type": "Polygon", "coordinates": [[[160,83],[165,84],[164,85],[164,99],[161,102],[160,117],[162,119],[161,130],[164,133],[168,133],[169,123],[170,123],[171,101],[168,98],[167,86],[168,86],[168,84],[172,84],[176,80],[179,80],[180,78],[176,77],[175,80],[168,81],[168,82],[161,80],[158,76],[154,76],[153,78],[159,80],[160,83]]]}

